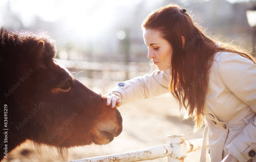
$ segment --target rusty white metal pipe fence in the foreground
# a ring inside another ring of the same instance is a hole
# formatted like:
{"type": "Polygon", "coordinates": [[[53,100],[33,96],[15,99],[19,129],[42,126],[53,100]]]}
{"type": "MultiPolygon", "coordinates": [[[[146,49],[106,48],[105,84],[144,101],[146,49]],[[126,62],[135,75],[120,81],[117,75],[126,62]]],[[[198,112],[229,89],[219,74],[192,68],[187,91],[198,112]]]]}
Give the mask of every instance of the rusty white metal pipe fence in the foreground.
{"type": "Polygon", "coordinates": [[[94,158],[73,160],[70,162],[110,162],[125,161],[135,162],[143,160],[153,160],[168,156],[167,162],[184,161],[188,152],[193,152],[201,148],[203,139],[185,141],[185,135],[167,136],[166,145],[153,146],[144,150],[126,152],[120,154],[106,155],[94,158]]]}

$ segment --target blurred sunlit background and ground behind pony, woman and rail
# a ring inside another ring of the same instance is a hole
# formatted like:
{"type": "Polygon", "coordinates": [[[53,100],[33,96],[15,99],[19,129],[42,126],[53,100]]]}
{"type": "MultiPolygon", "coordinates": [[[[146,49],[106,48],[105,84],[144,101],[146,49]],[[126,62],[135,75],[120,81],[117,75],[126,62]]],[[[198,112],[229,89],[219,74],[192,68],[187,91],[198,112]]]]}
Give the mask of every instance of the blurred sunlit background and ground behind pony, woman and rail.
{"type": "MultiPolygon", "coordinates": [[[[56,60],[84,85],[105,94],[116,83],[153,70],[141,23],[152,10],[170,3],[184,7],[208,34],[255,50],[255,0],[1,0],[0,24],[9,31],[47,31],[56,40],[56,60]]],[[[202,130],[193,134],[193,124],[182,120],[183,112],[178,117],[177,103],[170,94],[122,105],[119,111],[124,119],[119,137],[106,146],[74,148],[70,159],[166,144],[167,134],[185,134],[186,140],[202,138],[202,130]],[[163,118],[141,135],[158,115],[163,118]]],[[[199,155],[200,151],[191,153],[187,161],[199,161],[199,155]]],[[[4,161],[60,160],[54,151],[36,150],[28,143],[8,157],[4,161]],[[39,152],[45,156],[38,156],[39,152]]]]}

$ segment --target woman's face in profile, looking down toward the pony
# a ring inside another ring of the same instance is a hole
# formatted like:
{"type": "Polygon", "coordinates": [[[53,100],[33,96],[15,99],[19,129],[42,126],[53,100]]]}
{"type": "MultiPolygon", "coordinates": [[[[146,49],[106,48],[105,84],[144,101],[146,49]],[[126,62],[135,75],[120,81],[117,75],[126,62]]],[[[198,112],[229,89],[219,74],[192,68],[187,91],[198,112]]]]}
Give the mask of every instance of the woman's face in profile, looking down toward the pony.
{"type": "Polygon", "coordinates": [[[172,45],[161,35],[151,29],[143,30],[144,42],[148,46],[147,57],[152,59],[152,62],[161,71],[167,70],[172,66],[172,45]]]}

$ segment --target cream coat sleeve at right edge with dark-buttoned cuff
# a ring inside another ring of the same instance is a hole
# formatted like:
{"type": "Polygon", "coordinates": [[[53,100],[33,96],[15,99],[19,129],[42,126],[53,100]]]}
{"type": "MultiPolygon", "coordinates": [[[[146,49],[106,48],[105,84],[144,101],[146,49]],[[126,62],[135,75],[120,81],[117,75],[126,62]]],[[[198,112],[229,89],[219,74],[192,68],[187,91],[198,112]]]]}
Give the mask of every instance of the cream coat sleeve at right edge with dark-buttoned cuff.
{"type": "MultiPolygon", "coordinates": [[[[256,65],[236,53],[227,53],[218,63],[223,83],[256,112],[256,65]]],[[[223,110],[225,111],[225,110],[223,110]]],[[[256,152],[256,118],[227,146],[238,161],[248,161],[256,152]]]]}

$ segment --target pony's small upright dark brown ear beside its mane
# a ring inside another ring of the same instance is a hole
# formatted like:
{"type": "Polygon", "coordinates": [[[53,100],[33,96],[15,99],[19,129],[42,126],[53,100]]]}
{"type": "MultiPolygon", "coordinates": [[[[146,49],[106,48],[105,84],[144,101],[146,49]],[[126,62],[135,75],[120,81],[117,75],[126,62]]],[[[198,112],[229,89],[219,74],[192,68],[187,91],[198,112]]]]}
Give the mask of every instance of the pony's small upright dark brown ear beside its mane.
{"type": "Polygon", "coordinates": [[[45,68],[43,62],[43,54],[45,51],[45,42],[39,41],[35,47],[33,47],[28,53],[28,60],[36,68],[45,68]]]}

